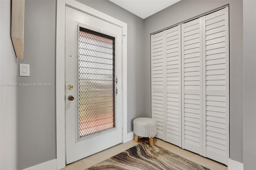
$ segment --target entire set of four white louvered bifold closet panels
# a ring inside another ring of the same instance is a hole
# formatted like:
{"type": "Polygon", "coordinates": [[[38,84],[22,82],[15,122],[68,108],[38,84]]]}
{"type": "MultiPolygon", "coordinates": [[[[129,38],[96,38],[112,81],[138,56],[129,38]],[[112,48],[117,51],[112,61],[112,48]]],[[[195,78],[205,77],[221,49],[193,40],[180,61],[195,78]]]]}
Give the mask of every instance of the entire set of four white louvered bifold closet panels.
{"type": "Polygon", "coordinates": [[[156,137],[227,164],[228,7],[151,36],[151,87],[156,137]]]}

